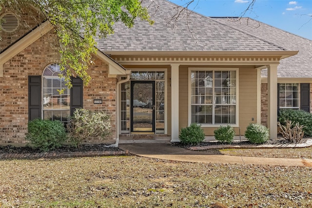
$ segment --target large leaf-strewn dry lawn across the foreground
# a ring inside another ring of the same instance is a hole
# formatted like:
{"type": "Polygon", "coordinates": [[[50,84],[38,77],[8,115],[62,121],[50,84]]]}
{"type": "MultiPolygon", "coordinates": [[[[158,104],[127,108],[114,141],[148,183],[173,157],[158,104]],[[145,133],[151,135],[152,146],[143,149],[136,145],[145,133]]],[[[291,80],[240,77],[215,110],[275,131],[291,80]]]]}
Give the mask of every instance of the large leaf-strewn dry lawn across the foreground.
{"type": "Polygon", "coordinates": [[[312,207],[312,168],[137,156],[0,160],[0,207],[312,207]]]}

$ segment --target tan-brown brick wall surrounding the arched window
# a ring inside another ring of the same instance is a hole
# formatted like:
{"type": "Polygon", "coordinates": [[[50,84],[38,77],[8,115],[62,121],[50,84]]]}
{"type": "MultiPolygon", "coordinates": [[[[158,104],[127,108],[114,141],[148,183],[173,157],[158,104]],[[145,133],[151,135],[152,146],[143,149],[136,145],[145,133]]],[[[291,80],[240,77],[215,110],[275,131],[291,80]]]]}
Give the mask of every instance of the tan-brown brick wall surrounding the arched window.
{"type": "MultiPolygon", "coordinates": [[[[51,41],[53,33],[43,36],[25,50],[6,62],[0,77],[0,144],[24,143],[28,124],[28,76],[40,75],[44,68],[59,61],[59,53],[51,41]]],[[[52,42],[53,43],[53,42],[52,42]]],[[[85,109],[105,111],[113,124],[111,140],[116,133],[116,78],[108,78],[107,65],[94,57],[95,64],[89,69],[93,77],[84,86],[85,109]],[[93,104],[102,99],[103,104],[93,104]]],[[[99,142],[99,141],[92,141],[99,142]]]]}

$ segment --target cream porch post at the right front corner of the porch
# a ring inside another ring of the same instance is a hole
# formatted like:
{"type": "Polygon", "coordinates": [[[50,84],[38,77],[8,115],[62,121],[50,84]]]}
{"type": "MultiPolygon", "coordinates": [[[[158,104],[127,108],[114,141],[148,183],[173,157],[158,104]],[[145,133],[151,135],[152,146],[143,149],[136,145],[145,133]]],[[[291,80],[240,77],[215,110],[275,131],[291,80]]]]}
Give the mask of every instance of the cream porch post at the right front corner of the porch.
{"type": "Polygon", "coordinates": [[[277,138],[277,66],[268,65],[268,127],[270,139],[277,138]]]}

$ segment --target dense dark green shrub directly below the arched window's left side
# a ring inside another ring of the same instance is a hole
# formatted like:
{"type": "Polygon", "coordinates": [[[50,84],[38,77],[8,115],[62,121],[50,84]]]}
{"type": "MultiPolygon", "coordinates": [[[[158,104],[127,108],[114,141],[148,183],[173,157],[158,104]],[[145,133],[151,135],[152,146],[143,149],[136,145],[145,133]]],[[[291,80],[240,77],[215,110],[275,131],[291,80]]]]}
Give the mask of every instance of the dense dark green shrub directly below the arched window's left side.
{"type": "Polygon", "coordinates": [[[35,119],[28,122],[26,140],[40,151],[51,151],[61,147],[66,138],[65,127],[58,120],[35,119]]]}

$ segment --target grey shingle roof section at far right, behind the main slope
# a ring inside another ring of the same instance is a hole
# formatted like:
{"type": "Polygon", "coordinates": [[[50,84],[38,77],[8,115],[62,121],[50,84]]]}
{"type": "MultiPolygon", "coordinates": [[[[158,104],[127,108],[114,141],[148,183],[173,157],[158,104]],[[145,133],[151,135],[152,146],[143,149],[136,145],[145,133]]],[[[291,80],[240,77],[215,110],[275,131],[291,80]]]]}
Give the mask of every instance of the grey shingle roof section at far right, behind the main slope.
{"type": "Polygon", "coordinates": [[[278,66],[278,77],[312,77],[312,40],[302,38],[263,22],[250,18],[213,18],[256,37],[282,45],[288,50],[299,51],[297,55],[282,59],[278,66]]]}

